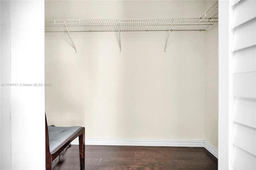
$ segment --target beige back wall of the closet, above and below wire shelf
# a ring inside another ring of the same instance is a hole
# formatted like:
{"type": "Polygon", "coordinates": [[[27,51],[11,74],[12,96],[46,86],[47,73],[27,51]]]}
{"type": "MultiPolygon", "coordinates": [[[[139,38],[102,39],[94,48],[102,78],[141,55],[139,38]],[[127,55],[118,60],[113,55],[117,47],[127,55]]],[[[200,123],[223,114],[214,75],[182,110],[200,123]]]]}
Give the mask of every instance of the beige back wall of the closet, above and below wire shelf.
{"type": "MultiPolygon", "coordinates": [[[[190,18],[207,8],[204,1],[45,6],[46,19],[190,18]]],[[[206,34],[171,32],[164,53],[167,32],[121,32],[120,53],[115,32],[71,33],[75,53],[67,33],[46,33],[48,124],[85,126],[87,138],[204,140],[206,34]]]]}

